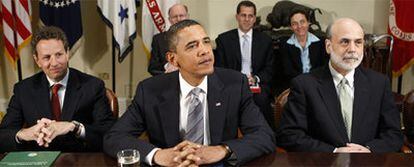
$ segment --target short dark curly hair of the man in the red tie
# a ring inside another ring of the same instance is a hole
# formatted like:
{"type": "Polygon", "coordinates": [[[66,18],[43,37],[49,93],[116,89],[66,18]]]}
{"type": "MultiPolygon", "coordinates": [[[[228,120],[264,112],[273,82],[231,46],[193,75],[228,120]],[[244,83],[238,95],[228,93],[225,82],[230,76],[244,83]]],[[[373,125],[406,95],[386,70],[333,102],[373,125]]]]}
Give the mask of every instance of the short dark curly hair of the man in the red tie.
{"type": "Polygon", "coordinates": [[[40,27],[40,29],[33,34],[31,42],[33,54],[37,56],[36,46],[39,41],[48,39],[56,39],[62,41],[63,46],[65,47],[65,51],[69,50],[68,38],[62,29],[55,26],[44,26],[40,27]]]}

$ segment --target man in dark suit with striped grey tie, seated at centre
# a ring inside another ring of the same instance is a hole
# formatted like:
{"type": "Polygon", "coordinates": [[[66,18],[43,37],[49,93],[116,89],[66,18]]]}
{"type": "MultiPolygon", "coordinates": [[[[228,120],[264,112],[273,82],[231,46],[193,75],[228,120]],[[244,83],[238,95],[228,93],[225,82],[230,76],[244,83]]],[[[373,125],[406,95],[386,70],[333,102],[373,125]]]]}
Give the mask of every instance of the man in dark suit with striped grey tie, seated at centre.
{"type": "Polygon", "coordinates": [[[211,41],[203,27],[193,20],[174,24],[168,43],[179,71],[138,85],[132,104],[105,135],[104,151],[116,156],[135,148],[142,162],[161,166],[245,163],[273,152],[273,132],[253,102],[247,78],[213,67],[211,41]],[[200,91],[196,98],[194,90],[200,91]],[[191,105],[194,99],[200,106],[191,105]],[[237,138],[238,129],[243,138],[237,138]],[[144,131],[150,142],[138,139],[144,131]],[[196,138],[191,137],[194,132],[199,132],[196,138]]]}

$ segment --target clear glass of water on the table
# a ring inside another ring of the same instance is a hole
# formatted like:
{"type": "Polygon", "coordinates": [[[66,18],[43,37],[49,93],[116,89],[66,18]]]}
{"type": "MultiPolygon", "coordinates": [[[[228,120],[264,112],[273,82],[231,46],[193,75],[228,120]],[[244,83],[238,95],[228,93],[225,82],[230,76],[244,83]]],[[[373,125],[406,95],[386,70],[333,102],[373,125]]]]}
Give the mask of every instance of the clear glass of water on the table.
{"type": "Polygon", "coordinates": [[[135,149],[121,150],[117,153],[118,166],[120,167],[138,167],[139,152],[135,149]]]}

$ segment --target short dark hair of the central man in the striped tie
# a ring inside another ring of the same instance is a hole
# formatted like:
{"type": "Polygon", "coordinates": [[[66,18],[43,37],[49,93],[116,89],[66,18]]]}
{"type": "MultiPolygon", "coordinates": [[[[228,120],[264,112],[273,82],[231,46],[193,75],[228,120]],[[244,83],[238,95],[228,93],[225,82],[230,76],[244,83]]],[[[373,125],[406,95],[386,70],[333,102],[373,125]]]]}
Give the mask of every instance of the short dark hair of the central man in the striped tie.
{"type": "Polygon", "coordinates": [[[186,27],[190,27],[193,25],[200,25],[200,23],[198,23],[195,20],[191,20],[191,19],[187,19],[187,20],[182,20],[178,23],[175,23],[174,25],[172,25],[170,27],[170,29],[167,31],[167,43],[168,43],[168,49],[169,51],[175,51],[177,49],[177,44],[178,44],[178,38],[177,38],[177,34],[179,31],[181,31],[182,29],[186,28],[186,27]]]}

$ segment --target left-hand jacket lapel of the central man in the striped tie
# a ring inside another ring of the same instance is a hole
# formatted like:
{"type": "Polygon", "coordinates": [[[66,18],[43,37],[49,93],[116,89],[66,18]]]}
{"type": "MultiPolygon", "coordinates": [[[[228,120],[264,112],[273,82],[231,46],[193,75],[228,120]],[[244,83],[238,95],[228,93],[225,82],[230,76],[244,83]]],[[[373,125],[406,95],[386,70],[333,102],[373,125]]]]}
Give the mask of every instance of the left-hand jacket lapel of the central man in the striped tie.
{"type": "Polygon", "coordinates": [[[161,94],[157,110],[160,118],[161,127],[168,147],[175,146],[182,140],[180,136],[180,87],[178,72],[170,75],[170,82],[165,93],[161,94]]]}

